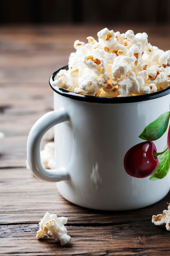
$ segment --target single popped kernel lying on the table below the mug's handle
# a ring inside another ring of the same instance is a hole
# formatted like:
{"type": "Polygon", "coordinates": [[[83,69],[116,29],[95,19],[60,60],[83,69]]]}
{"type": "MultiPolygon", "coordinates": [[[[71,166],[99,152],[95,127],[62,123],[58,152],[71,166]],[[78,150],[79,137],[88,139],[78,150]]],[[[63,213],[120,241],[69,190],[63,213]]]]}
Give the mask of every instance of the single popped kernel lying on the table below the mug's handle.
{"type": "Polygon", "coordinates": [[[40,239],[46,234],[48,238],[54,236],[56,242],[60,241],[61,245],[67,244],[71,238],[67,235],[67,229],[64,226],[67,220],[65,217],[57,217],[56,214],[45,213],[39,222],[40,229],[37,231],[36,238],[40,239]]]}

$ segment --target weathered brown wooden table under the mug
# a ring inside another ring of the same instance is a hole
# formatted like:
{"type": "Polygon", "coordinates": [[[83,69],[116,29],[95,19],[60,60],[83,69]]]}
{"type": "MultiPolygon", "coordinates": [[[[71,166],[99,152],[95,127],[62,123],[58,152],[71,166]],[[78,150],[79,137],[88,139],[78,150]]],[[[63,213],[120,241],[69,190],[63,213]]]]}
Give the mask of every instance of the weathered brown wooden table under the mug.
{"type": "MultiPolygon", "coordinates": [[[[27,136],[34,122],[53,108],[48,79],[68,62],[74,40],[86,42],[106,25],[0,27],[0,256],[4,255],[169,255],[170,232],[152,224],[170,194],[134,211],[84,209],[63,199],[56,184],[26,169],[27,136]],[[36,239],[44,214],[68,218],[71,240],[36,239]]],[[[170,26],[108,25],[114,31],[146,31],[149,42],[170,49],[170,26]]],[[[47,143],[45,139],[42,144],[47,143]]]]}

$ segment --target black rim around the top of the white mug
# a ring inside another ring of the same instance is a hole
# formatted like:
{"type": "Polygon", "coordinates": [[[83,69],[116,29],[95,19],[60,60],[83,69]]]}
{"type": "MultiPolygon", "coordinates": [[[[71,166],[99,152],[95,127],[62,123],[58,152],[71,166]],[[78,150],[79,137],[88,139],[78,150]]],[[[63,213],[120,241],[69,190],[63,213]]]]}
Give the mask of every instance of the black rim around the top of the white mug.
{"type": "Polygon", "coordinates": [[[170,86],[164,90],[159,91],[159,92],[154,92],[154,93],[139,95],[139,96],[130,96],[130,97],[96,97],[96,96],[78,94],[78,93],[70,92],[66,89],[54,87],[51,85],[51,82],[54,81],[56,74],[62,69],[68,70],[68,65],[60,68],[59,70],[56,70],[50,76],[49,85],[51,86],[52,90],[54,90],[54,92],[56,92],[64,97],[78,100],[78,101],[87,101],[87,102],[92,102],[92,103],[131,103],[131,102],[148,101],[148,100],[152,100],[152,99],[157,99],[157,98],[160,98],[160,97],[170,94],[170,86]]]}

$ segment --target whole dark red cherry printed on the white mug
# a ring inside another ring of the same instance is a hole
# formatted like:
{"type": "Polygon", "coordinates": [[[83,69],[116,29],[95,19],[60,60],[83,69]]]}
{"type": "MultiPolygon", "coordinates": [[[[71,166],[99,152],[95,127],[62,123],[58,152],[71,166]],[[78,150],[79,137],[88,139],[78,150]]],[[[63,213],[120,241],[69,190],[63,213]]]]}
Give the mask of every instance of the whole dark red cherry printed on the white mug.
{"type": "Polygon", "coordinates": [[[157,148],[152,141],[141,142],[128,150],[124,157],[125,171],[136,178],[144,178],[157,169],[157,148]]]}

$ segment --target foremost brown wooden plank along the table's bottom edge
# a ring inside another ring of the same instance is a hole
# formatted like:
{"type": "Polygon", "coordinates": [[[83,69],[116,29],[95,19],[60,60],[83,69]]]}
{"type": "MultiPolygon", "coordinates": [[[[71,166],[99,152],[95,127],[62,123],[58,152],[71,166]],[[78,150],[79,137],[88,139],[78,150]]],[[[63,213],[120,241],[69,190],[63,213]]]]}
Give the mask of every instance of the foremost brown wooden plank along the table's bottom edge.
{"type": "MultiPolygon", "coordinates": [[[[161,255],[170,250],[168,231],[146,222],[135,225],[68,226],[69,243],[54,238],[36,239],[38,225],[0,226],[0,255],[161,255]],[[150,228],[150,233],[148,233],[150,228]]],[[[165,255],[165,254],[164,254],[165,255]]]]}

